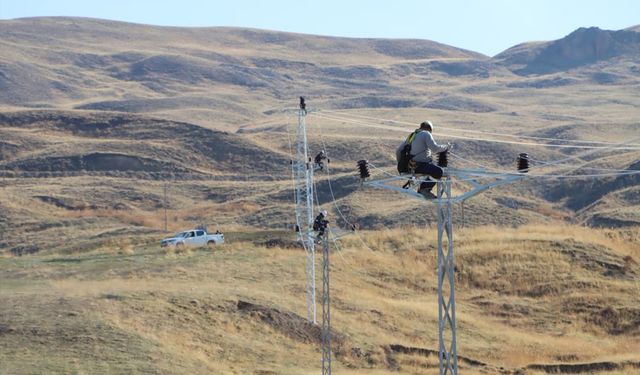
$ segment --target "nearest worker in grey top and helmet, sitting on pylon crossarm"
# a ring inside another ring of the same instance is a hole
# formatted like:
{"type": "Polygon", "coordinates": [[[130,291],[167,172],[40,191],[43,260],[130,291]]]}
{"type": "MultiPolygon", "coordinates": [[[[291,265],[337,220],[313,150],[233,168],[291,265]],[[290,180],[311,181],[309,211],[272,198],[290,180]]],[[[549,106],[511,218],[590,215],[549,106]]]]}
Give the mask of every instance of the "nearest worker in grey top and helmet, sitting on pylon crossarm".
{"type": "MultiPolygon", "coordinates": [[[[396,149],[398,172],[427,175],[439,180],[443,170],[433,163],[432,153],[445,152],[451,144],[439,145],[433,139],[433,124],[424,121],[420,127],[411,133],[396,149]]],[[[436,185],[434,181],[424,181],[418,188],[418,193],[426,199],[436,198],[431,189],[436,185]]]]}

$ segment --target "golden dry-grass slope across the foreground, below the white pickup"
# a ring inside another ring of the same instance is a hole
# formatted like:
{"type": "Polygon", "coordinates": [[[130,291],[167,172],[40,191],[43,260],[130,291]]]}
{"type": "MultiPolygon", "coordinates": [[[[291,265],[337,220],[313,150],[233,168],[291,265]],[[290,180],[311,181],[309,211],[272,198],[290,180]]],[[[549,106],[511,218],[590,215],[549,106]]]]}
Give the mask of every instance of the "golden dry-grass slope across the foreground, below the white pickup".
{"type": "MultiPolygon", "coordinates": [[[[303,251],[246,241],[1,258],[4,371],[316,373],[318,328],[301,317],[303,251]]],[[[481,227],[455,241],[461,371],[640,368],[637,231],[481,227]]],[[[360,233],[334,249],[334,371],[437,373],[435,248],[433,229],[411,229],[360,233]]]]}

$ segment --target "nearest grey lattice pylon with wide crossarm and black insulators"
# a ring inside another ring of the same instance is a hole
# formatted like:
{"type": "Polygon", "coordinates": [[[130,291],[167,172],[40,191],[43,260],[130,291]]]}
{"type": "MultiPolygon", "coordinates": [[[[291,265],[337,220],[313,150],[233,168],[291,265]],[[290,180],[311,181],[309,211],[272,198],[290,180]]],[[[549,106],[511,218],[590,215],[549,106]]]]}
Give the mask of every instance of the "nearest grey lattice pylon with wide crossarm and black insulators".
{"type": "MultiPolygon", "coordinates": [[[[410,176],[410,182],[400,187],[392,183],[404,182],[407,180],[407,176],[365,181],[370,178],[368,162],[366,160],[359,161],[358,168],[363,185],[389,189],[411,195],[425,202],[436,203],[438,213],[438,352],[440,375],[458,375],[453,204],[462,203],[485,190],[520,180],[524,178],[524,175],[518,173],[492,173],[481,169],[443,167],[443,178],[436,182],[438,189],[436,198],[425,200],[422,195],[411,190],[411,186],[427,180],[426,178],[419,179],[415,176],[410,176]],[[451,193],[453,178],[468,182],[472,188],[458,196],[453,196],[451,193]],[[480,182],[480,180],[486,181],[487,179],[493,181],[480,182]],[[445,234],[446,246],[444,243],[445,234]]],[[[521,154],[518,158],[518,171],[521,173],[527,172],[528,168],[528,157],[526,154],[521,154]]]]}

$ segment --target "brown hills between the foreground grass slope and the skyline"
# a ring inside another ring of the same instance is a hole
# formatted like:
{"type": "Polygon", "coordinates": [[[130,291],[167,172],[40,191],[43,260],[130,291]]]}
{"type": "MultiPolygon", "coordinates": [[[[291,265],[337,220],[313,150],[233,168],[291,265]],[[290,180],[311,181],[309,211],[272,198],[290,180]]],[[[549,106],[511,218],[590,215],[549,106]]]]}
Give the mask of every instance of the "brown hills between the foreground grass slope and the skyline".
{"type": "MultiPolygon", "coordinates": [[[[528,152],[542,163],[575,157],[549,173],[574,164],[627,170],[633,149],[589,156],[541,144],[640,143],[640,80],[626,58],[525,77],[509,70],[516,65],[431,41],[76,18],[0,21],[0,47],[0,225],[54,237],[75,228],[65,235],[83,239],[77,249],[162,229],[165,206],[175,230],[290,228],[290,109],[299,95],[311,109],[311,152],[325,148],[332,159],[333,184],[317,176],[319,203],[363,228],[435,220],[430,206],[416,217],[419,202],[360,189],[353,171],[363,158],[393,171],[394,147],[423,119],[436,123],[438,141],[455,142],[459,168],[513,171],[528,152]],[[332,109],[338,118],[313,117],[332,109]]],[[[526,62],[547,47],[511,52],[526,62]]],[[[455,220],[633,226],[636,184],[530,179],[470,201],[455,220]]],[[[49,245],[7,233],[0,251],[49,245]]]]}

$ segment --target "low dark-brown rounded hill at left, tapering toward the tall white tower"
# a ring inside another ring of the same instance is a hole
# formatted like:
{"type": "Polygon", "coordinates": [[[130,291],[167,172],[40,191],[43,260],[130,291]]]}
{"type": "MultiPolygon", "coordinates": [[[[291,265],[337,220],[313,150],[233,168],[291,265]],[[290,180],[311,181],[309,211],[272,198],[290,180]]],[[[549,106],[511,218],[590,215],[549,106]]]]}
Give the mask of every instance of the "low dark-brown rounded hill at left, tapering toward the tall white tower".
{"type": "Polygon", "coordinates": [[[3,149],[14,151],[0,160],[0,169],[9,171],[207,175],[242,166],[248,175],[273,172],[289,160],[235,134],[123,113],[5,112],[0,132],[7,141],[3,149]]]}

